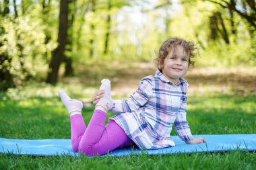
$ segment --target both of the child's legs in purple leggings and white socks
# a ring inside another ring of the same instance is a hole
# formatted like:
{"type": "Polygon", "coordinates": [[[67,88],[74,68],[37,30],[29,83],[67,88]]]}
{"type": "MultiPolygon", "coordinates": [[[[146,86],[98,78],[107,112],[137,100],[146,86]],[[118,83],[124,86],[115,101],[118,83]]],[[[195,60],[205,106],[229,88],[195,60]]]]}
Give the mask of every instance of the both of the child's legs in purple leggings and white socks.
{"type": "Polygon", "coordinates": [[[105,90],[104,96],[96,104],[96,110],[88,124],[84,124],[82,118],[83,104],[59,91],[59,95],[71,116],[71,141],[73,150],[86,155],[104,154],[120,146],[127,146],[132,141],[127,137],[123,129],[114,121],[110,121],[106,128],[106,111],[112,108],[113,102],[110,96],[110,81],[102,80],[100,89],[105,90]]]}

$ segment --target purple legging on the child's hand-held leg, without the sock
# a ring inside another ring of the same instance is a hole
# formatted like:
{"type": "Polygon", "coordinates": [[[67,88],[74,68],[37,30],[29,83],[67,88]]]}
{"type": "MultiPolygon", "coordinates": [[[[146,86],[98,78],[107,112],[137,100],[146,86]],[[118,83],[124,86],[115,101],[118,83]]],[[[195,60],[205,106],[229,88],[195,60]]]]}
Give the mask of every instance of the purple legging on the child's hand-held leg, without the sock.
{"type": "Polygon", "coordinates": [[[103,155],[108,151],[113,151],[115,148],[132,144],[132,140],[128,138],[115,121],[110,120],[105,128],[105,120],[105,112],[94,110],[86,132],[80,140],[79,153],[84,153],[88,156],[103,155]]]}

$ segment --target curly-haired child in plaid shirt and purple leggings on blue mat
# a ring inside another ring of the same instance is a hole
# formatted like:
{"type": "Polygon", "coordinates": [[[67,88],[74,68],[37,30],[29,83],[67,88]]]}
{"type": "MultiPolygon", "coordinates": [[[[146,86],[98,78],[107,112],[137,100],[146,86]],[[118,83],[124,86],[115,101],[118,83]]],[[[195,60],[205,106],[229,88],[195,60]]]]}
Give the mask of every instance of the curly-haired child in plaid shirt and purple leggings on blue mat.
{"type": "Polygon", "coordinates": [[[126,100],[112,100],[110,81],[102,80],[100,91],[94,95],[96,108],[87,128],[82,102],[59,91],[71,119],[73,151],[93,156],[131,144],[140,149],[175,146],[170,138],[173,124],[187,144],[206,142],[204,138],[193,138],[186,119],[189,84],[183,76],[193,65],[195,50],[193,42],[181,38],[166,40],[155,60],[156,75],[141,79],[137,91],[126,100]],[[118,114],[104,127],[108,110],[118,114]]]}

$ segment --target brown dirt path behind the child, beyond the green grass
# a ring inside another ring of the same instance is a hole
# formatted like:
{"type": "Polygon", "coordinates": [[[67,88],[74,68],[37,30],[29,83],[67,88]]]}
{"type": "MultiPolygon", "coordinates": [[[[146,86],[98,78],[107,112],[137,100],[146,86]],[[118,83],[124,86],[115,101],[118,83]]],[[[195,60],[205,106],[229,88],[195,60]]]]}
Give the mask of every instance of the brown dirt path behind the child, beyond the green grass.
{"type": "MultiPolygon", "coordinates": [[[[129,97],[148,75],[155,75],[153,62],[111,63],[78,68],[77,76],[62,79],[64,83],[77,83],[82,87],[99,87],[101,79],[112,81],[113,96],[129,97]]],[[[185,79],[189,81],[188,95],[198,93],[223,93],[230,95],[256,95],[256,67],[204,68],[194,67],[185,79]]]]}

